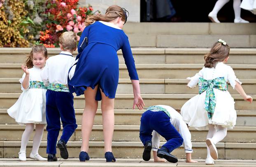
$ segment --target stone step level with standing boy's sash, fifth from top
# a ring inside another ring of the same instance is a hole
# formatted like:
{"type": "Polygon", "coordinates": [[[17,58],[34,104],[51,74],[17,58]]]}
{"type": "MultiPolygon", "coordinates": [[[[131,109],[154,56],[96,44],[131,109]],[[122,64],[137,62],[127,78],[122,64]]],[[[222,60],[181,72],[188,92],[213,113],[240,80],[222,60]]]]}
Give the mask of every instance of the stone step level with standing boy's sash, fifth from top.
{"type": "MultiPolygon", "coordinates": [[[[140,79],[140,92],[144,94],[196,94],[198,87],[186,88],[187,79],[140,79]]],[[[240,79],[247,94],[256,94],[256,79],[240,79]]],[[[230,94],[237,91],[228,86],[230,94]]],[[[21,93],[19,78],[0,78],[0,93],[21,93]]],[[[130,79],[119,79],[116,93],[133,93],[130,79]]]]}

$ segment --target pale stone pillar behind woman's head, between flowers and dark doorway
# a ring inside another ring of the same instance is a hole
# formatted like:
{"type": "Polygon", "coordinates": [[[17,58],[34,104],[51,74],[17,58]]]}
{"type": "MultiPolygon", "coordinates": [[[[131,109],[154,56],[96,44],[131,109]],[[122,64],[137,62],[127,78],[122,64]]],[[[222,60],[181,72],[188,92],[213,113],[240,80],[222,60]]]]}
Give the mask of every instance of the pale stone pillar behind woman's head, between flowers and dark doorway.
{"type": "Polygon", "coordinates": [[[128,22],[140,22],[140,0],[79,0],[80,6],[90,4],[93,9],[105,14],[111,5],[118,5],[129,11],[128,22]]]}

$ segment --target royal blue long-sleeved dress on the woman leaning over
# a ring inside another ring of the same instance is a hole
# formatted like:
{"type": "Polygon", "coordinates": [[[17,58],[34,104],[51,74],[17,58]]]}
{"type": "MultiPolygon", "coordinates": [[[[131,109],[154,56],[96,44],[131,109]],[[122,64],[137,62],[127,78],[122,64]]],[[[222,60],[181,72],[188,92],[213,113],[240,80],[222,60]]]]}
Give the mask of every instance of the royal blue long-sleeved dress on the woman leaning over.
{"type": "Polygon", "coordinates": [[[84,94],[88,86],[94,89],[99,85],[95,100],[101,100],[100,89],[107,97],[113,99],[119,79],[119,61],[116,53],[119,49],[123,52],[130,79],[139,80],[128,36],[123,30],[99,21],[84,29],[78,46],[87,35],[88,45],[84,50],[78,48],[78,53],[81,54],[74,76],[69,82],[69,85],[74,87],[70,91],[79,96],[84,94]]]}

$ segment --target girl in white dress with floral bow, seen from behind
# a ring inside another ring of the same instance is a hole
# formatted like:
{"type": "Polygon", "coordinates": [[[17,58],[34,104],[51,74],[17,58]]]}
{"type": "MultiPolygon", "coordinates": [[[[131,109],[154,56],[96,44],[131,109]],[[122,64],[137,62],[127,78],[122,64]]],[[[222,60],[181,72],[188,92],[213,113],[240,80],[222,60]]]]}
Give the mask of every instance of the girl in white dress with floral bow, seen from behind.
{"type": "Polygon", "coordinates": [[[207,165],[214,164],[218,158],[215,147],[225,138],[227,128],[233,128],[236,122],[234,99],[227,90],[227,82],[248,102],[252,97],[247,95],[241,82],[236,78],[233,69],[225,63],[229,58],[230,47],[219,39],[209,53],[205,54],[205,65],[194,77],[189,77],[189,88],[198,83],[199,95],[189,99],[182,108],[183,120],[195,129],[209,129],[207,134],[207,165]]]}

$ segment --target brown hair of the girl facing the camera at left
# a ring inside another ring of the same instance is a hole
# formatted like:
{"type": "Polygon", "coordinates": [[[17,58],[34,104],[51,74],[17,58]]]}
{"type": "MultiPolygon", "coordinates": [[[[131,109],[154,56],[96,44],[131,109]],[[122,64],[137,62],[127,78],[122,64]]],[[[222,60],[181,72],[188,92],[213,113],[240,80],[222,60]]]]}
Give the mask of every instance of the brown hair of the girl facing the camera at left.
{"type": "Polygon", "coordinates": [[[34,45],[31,49],[30,55],[27,57],[26,66],[28,68],[33,68],[33,53],[42,53],[44,57],[47,58],[47,49],[44,45],[34,45]]]}

